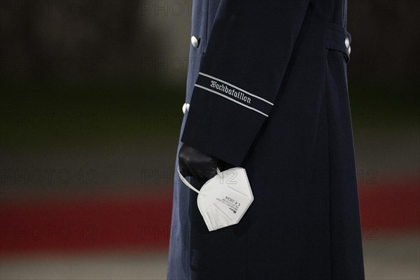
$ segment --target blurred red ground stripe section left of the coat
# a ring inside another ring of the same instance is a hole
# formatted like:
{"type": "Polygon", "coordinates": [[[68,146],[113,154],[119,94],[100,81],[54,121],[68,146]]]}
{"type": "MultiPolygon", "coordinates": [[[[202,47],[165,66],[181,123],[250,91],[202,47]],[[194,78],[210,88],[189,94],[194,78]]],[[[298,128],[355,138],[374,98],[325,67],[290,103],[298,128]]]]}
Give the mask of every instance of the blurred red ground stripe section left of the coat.
{"type": "Polygon", "coordinates": [[[167,248],[172,197],[50,201],[0,207],[0,253],[167,248]]]}

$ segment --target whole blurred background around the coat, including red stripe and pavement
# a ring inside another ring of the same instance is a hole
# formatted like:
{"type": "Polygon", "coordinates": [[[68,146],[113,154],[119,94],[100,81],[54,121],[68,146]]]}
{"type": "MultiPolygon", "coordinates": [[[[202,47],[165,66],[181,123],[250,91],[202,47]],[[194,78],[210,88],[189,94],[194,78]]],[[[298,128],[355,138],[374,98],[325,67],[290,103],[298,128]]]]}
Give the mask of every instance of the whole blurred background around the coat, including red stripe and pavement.
{"type": "MultiPolygon", "coordinates": [[[[1,279],[165,278],[192,3],[0,2],[1,279]]],[[[370,279],[420,279],[419,8],[349,1],[370,279]]]]}

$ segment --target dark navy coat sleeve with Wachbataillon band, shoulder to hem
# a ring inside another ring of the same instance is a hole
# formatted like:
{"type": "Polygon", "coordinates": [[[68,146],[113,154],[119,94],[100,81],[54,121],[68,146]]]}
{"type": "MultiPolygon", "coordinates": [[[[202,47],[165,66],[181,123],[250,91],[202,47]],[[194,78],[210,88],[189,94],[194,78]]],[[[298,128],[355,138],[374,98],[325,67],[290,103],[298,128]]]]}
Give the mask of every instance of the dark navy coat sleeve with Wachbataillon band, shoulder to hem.
{"type": "Polygon", "coordinates": [[[181,141],[240,166],[269,118],[309,0],[221,0],[181,141]]]}

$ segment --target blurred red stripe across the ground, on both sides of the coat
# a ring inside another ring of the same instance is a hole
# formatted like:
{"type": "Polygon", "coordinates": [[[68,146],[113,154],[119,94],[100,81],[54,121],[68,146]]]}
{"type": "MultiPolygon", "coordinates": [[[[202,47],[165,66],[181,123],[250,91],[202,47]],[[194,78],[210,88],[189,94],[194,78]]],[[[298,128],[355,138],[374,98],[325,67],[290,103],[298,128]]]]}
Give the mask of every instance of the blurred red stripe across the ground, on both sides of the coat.
{"type": "MultiPolygon", "coordinates": [[[[360,186],[363,231],[418,231],[419,186],[360,186]]],[[[0,253],[167,249],[172,195],[20,201],[0,206],[0,253]]]]}

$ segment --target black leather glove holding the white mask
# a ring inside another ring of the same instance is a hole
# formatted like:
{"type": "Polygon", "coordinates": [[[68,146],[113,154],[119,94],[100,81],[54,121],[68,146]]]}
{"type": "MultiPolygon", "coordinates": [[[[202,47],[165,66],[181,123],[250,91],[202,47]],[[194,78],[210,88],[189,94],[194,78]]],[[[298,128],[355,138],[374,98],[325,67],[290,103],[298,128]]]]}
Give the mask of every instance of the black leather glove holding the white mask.
{"type": "Polygon", "coordinates": [[[233,166],[183,144],[178,155],[179,171],[183,176],[194,176],[201,179],[211,179],[217,174],[217,167],[221,171],[233,166]]]}

